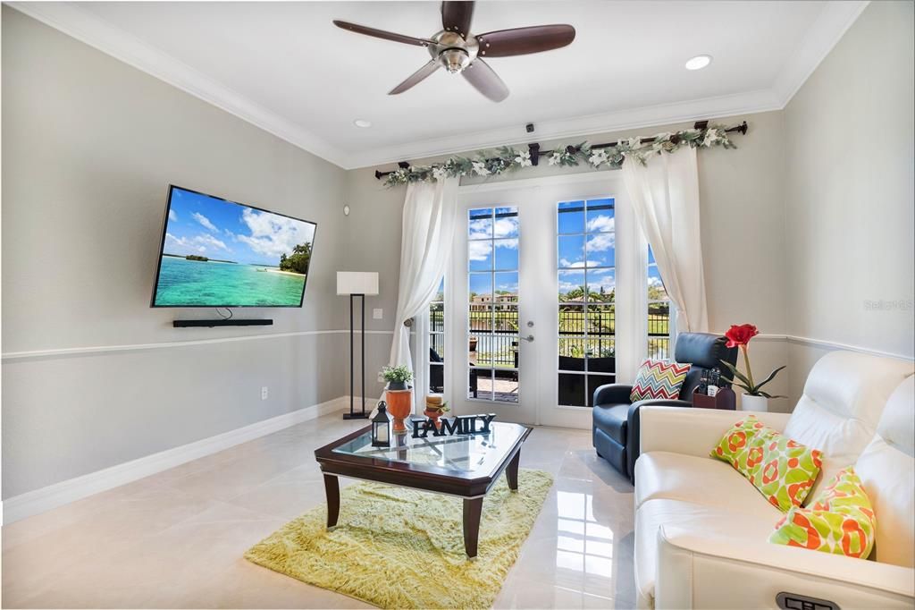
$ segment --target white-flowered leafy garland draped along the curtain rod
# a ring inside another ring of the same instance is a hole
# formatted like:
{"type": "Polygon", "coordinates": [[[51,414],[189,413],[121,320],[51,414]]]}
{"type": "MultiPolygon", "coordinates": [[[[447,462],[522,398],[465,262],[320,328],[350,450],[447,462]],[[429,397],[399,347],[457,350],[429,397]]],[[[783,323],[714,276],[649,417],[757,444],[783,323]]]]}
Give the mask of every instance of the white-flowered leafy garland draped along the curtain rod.
{"type": "MultiPolygon", "coordinates": [[[[550,165],[574,167],[587,163],[594,169],[619,169],[627,158],[645,165],[653,155],[672,153],[682,147],[737,148],[727,136],[725,127],[709,125],[705,129],[684,129],[674,133],[654,136],[653,141],[642,144],[642,138],[621,140],[612,147],[591,147],[587,142],[575,146],[558,147],[549,157],[550,165]]],[[[497,148],[495,154],[480,152],[477,157],[452,157],[442,163],[395,169],[384,179],[384,186],[393,187],[408,182],[430,182],[446,177],[498,176],[507,171],[533,166],[531,153],[513,147],[497,148]]]]}

